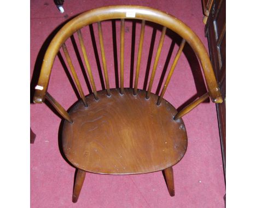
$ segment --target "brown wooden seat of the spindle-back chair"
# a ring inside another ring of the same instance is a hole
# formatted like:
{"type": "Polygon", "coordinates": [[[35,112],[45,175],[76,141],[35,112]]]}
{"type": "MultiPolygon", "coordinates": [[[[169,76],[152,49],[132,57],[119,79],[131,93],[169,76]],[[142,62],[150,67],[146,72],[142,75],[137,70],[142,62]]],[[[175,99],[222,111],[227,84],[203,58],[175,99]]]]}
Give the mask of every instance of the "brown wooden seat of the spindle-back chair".
{"type": "Polygon", "coordinates": [[[173,120],[176,109],[158,96],[125,88],[98,91],[73,105],[74,123],[62,127],[62,148],[68,161],[87,172],[139,174],[163,170],[179,162],[187,150],[182,119],[173,120]]]}

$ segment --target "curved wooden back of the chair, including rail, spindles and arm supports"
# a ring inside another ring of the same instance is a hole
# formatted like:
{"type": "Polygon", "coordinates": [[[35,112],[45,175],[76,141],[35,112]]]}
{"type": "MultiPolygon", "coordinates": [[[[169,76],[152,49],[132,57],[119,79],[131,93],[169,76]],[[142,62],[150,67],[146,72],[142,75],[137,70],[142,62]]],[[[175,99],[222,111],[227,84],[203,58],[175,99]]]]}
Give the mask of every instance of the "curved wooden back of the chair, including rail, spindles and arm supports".
{"type": "Polygon", "coordinates": [[[84,44],[83,35],[81,32],[81,29],[83,27],[89,26],[93,23],[97,23],[98,27],[98,36],[100,39],[100,50],[101,50],[101,60],[102,60],[102,66],[103,66],[103,74],[104,74],[104,84],[106,88],[106,93],[108,96],[110,96],[110,88],[109,88],[109,78],[108,78],[108,69],[107,69],[107,60],[105,56],[105,48],[104,48],[104,41],[103,41],[103,32],[102,32],[102,21],[106,20],[113,20],[113,19],[120,19],[120,94],[123,94],[124,92],[124,59],[125,59],[125,21],[127,19],[137,19],[138,21],[141,21],[141,32],[139,35],[139,45],[138,45],[138,55],[137,55],[137,65],[136,65],[136,73],[135,73],[135,79],[133,83],[133,94],[137,94],[138,89],[138,79],[139,79],[139,70],[140,70],[140,64],[141,64],[141,58],[144,54],[143,51],[143,39],[144,39],[144,33],[145,33],[145,25],[146,22],[154,22],[156,24],[159,24],[162,28],[161,31],[161,37],[158,45],[158,50],[155,55],[154,59],[154,65],[153,69],[150,75],[148,87],[147,87],[147,94],[146,99],[149,99],[150,93],[152,91],[152,85],[155,81],[155,72],[158,66],[158,61],[160,58],[162,46],[164,45],[164,39],[166,35],[166,30],[170,29],[173,32],[177,33],[179,36],[181,36],[182,41],[179,45],[178,52],[174,58],[174,61],[171,65],[170,71],[168,72],[168,76],[165,79],[164,86],[162,87],[161,93],[159,95],[159,99],[156,103],[156,105],[160,105],[162,97],[165,94],[165,91],[168,87],[168,84],[170,82],[171,76],[173,74],[174,68],[177,65],[178,59],[182,54],[182,50],[184,48],[184,45],[189,44],[193,51],[195,52],[197,58],[199,59],[199,62],[201,64],[203,74],[205,76],[205,81],[207,85],[208,92],[199,97],[196,101],[190,103],[187,107],[185,107],[181,112],[179,112],[176,115],[176,119],[182,117],[184,114],[188,113],[199,105],[199,103],[203,102],[207,99],[207,97],[211,97],[213,102],[219,103],[222,102],[222,96],[220,95],[220,91],[218,88],[218,84],[216,82],[216,77],[214,76],[214,72],[212,69],[210,58],[208,57],[208,53],[206,51],[206,48],[203,46],[201,40],[198,38],[198,36],[182,21],[178,20],[176,17],[171,16],[169,14],[166,14],[162,11],[148,8],[148,7],[141,7],[141,6],[132,6],[132,5],[122,5],[122,6],[109,6],[109,7],[102,7],[97,9],[92,9],[90,11],[87,11],[83,14],[80,14],[71,21],[67,22],[65,26],[59,30],[59,32],[54,36],[53,40],[51,41],[48,50],[46,50],[42,69],[40,71],[39,81],[36,86],[36,91],[34,94],[34,102],[35,103],[43,103],[45,98],[48,99],[54,107],[57,109],[61,115],[68,120],[69,122],[72,122],[72,119],[69,118],[68,113],[61,107],[61,105],[49,94],[48,92],[48,84],[50,80],[51,75],[51,69],[53,68],[55,57],[57,56],[57,53],[61,50],[63,50],[63,53],[65,54],[67,63],[69,65],[69,69],[72,72],[75,84],[77,85],[79,95],[81,99],[84,102],[84,105],[87,106],[86,103],[86,97],[84,95],[83,89],[81,87],[79,77],[77,76],[77,73],[75,72],[74,65],[72,63],[71,56],[69,56],[68,48],[65,44],[65,42],[71,38],[72,35],[77,35],[79,39],[79,45],[81,48],[81,51],[83,53],[84,62],[86,65],[86,69],[90,78],[90,84],[92,91],[94,93],[95,99],[98,100],[97,95],[97,89],[94,81],[94,76],[92,74],[91,66],[90,66],[90,60],[88,58],[88,54],[86,51],[86,47],[84,44]],[[76,33],[76,34],[75,34],[76,33]]]}

